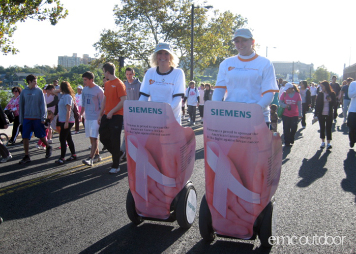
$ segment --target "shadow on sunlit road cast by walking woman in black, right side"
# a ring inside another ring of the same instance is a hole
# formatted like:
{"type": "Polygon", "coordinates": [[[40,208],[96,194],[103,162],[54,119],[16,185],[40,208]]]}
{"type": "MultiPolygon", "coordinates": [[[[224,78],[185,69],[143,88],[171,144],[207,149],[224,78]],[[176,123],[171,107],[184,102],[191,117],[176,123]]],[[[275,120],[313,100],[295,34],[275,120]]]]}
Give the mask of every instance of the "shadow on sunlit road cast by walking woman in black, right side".
{"type": "Polygon", "coordinates": [[[309,160],[307,158],[303,159],[302,166],[299,169],[299,176],[302,179],[296,184],[296,186],[301,188],[307,187],[325,175],[328,169],[324,168],[324,166],[327,163],[330,152],[325,151],[321,155],[322,152],[323,149],[319,149],[309,160]]]}

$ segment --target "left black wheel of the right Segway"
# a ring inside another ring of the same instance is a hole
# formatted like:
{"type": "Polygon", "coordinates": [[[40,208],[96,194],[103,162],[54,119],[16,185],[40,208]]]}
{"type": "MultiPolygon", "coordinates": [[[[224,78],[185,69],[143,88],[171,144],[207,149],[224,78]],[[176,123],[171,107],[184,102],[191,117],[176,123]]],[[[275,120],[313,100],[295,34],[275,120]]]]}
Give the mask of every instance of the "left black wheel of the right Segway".
{"type": "Polygon", "coordinates": [[[201,237],[207,241],[212,242],[216,237],[216,233],[213,229],[212,214],[207,206],[205,195],[201,199],[199,209],[199,231],[201,237]]]}

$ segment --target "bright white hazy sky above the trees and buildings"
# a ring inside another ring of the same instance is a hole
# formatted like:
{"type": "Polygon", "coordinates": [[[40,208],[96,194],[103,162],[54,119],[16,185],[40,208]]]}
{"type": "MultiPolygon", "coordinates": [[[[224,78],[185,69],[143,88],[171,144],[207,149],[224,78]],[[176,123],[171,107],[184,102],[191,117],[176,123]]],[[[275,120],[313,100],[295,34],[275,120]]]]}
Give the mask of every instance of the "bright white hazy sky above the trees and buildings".
{"type": "MultiPolygon", "coordinates": [[[[93,44],[103,29],[114,29],[113,7],[118,0],[62,0],[69,15],[55,26],[46,21],[26,20],[18,23],[13,37],[16,55],[0,55],[0,66],[56,66],[58,56],[98,53],[93,44]]],[[[148,1],[149,2],[149,1],[148,1]]],[[[257,53],[272,61],[313,63],[314,69],[324,65],[342,75],[346,67],[356,63],[356,33],[353,1],[320,0],[207,0],[214,9],[231,11],[248,19],[257,53]]],[[[209,10],[208,12],[212,12],[209,10]]],[[[232,36],[232,35],[231,35],[232,36]]],[[[237,52],[236,52],[237,53],[237,52]]]]}

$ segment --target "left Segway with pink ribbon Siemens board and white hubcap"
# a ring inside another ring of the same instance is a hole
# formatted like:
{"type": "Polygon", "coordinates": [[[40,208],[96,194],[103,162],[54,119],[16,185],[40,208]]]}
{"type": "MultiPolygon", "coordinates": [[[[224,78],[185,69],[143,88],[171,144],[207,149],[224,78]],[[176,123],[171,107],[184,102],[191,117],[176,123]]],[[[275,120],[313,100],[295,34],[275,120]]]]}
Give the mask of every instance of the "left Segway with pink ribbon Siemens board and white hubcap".
{"type": "Polygon", "coordinates": [[[189,178],[195,161],[195,134],[182,127],[167,103],[125,101],[124,126],[129,191],[126,211],[143,220],[173,222],[189,229],[197,196],[189,178]]]}

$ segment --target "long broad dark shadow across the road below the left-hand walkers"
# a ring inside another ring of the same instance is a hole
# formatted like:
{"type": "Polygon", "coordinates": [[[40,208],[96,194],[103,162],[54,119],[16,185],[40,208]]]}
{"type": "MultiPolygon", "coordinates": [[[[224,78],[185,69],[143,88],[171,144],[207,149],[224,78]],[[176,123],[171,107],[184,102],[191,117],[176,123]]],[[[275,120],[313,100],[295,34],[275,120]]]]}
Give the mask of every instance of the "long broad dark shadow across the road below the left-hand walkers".
{"type": "Polygon", "coordinates": [[[106,164],[84,167],[10,185],[11,188],[5,189],[5,194],[0,196],[2,217],[6,220],[31,217],[99,192],[127,177],[127,164],[120,168],[120,173],[110,175],[106,164]]]}

